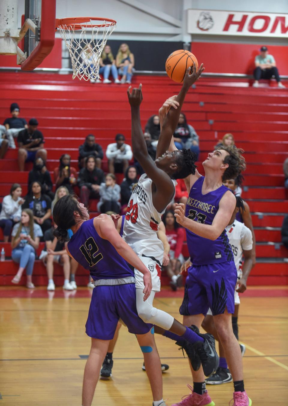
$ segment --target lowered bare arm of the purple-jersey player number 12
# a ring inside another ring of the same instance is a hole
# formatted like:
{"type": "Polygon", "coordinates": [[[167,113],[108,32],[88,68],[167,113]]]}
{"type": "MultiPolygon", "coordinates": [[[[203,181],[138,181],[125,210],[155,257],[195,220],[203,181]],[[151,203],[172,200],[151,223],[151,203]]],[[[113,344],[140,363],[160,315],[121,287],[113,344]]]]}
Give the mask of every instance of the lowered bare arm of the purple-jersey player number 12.
{"type": "Polygon", "coordinates": [[[100,216],[95,217],[93,220],[94,227],[101,238],[108,240],[116,249],[119,255],[130,263],[134,268],[142,272],[144,280],[144,300],[150,296],[152,281],[151,274],[146,268],[144,263],[138,256],[134,253],[132,248],[120,237],[118,231],[115,228],[114,221],[107,214],[100,214],[100,216]]]}

